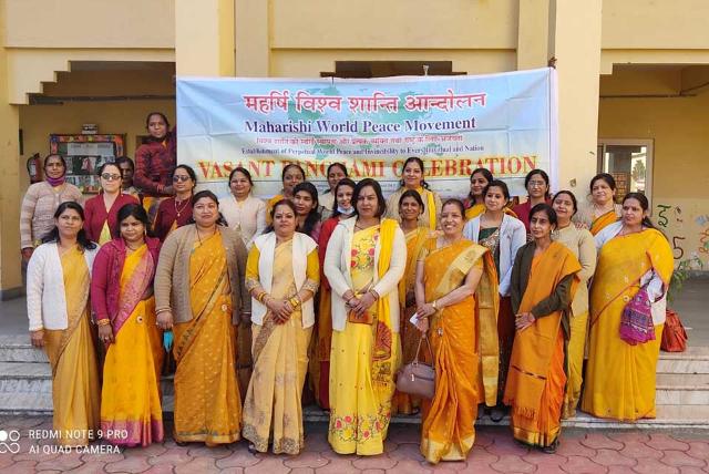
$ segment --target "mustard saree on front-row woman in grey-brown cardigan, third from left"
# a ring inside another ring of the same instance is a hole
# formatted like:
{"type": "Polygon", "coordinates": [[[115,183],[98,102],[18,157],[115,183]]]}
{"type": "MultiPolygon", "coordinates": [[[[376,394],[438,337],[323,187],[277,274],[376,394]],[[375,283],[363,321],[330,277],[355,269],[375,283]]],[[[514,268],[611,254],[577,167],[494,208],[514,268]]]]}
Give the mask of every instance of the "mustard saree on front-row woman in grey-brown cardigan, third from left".
{"type": "MultiPolygon", "coordinates": [[[[222,235],[195,241],[189,258],[193,319],[175,334],[175,431],[178,442],[233,443],[242,403],[236,381],[232,290],[222,235]]],[[[186,290],[186,289],[185,289],[186,290]]]]}

